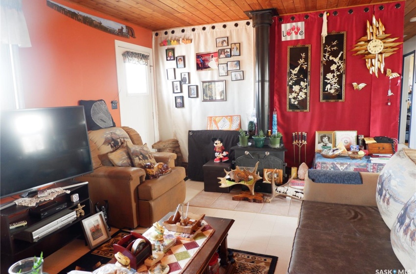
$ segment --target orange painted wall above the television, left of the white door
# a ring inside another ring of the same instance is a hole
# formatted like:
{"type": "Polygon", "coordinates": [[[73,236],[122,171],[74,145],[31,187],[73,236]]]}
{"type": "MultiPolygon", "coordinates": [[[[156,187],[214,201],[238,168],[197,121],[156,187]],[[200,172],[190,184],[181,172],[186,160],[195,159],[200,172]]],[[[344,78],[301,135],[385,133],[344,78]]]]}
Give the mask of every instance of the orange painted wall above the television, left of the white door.
{"type": "Polygon", "coordinates": [[[104,99],[117,126],[119,110],[115,40],[152,48],[152,31],[76,4],[69,8],[131,26],[136,38],[122,38],[79,23],[46,6],[46,0],[23,0],[32,47],[21,48],[26,108],[78,105],[79,100],[104,99]]]}

